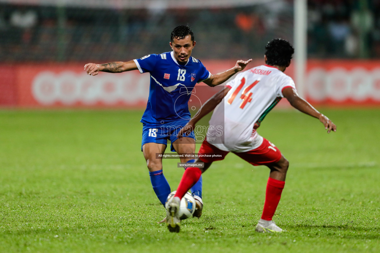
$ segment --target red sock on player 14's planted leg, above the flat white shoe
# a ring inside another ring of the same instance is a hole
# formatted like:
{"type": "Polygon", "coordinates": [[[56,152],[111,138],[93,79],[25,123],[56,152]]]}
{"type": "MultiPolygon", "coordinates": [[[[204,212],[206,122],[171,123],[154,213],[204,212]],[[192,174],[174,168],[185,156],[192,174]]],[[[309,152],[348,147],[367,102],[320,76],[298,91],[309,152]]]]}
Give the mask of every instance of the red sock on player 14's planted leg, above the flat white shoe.
{"type": "Polygon", "coordinates": [[[285,181],[280,181],[273,178],[268,179],[268,183],[266,184],[264,210],[263,215],[261,215],[263,220],[272,220],[277,205],[280,202],[284,185],[285,181]]]}

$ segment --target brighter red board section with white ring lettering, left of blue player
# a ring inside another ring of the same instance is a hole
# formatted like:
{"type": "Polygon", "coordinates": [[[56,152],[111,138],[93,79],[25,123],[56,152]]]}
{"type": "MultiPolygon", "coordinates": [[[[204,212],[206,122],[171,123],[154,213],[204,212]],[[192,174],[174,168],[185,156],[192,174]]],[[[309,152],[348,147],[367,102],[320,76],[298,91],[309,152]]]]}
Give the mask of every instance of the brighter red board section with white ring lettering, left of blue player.
{"type": "Polygon", "coordinates": [[[20,107],[143,107],[149,74],[138,71],[87,75],[82,64],[16,69],[20,107]]]}

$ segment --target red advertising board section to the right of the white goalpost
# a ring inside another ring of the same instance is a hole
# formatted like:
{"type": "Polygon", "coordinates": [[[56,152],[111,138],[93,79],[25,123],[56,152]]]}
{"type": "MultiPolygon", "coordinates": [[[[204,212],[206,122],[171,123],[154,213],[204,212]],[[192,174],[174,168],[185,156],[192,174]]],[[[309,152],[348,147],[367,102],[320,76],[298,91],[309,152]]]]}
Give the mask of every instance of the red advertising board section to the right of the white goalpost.
{"type": "Polygon", "coordinates": [[[323,105],[380,105],[380,61],[309,60],[307,100],[323,105]]]}

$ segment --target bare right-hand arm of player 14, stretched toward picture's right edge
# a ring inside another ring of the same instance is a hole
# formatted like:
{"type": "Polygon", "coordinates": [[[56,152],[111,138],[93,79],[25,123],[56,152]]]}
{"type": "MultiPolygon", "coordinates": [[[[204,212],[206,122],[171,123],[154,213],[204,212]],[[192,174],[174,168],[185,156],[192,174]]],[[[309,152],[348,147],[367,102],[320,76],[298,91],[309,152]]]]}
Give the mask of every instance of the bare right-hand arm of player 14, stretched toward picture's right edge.
{"type": "Polygon", "coordinates": [[[336,132],[336,125],[332,123],[332,121],[327,118],[322,113],[318,112],[317,109],[312,107],[307,101],[305,101],[302,97],[299,97],[297,92],[291,88],[285,88],[282,91],[282,94],[286,99],[288,99],[291,106],[299,110],[300,112],[306,113],[307,115],[313,116],[314,118],[319,119],[325,126],[325,129],[327,130],[327,133],[329,133],[331,130],[336,132]]]}

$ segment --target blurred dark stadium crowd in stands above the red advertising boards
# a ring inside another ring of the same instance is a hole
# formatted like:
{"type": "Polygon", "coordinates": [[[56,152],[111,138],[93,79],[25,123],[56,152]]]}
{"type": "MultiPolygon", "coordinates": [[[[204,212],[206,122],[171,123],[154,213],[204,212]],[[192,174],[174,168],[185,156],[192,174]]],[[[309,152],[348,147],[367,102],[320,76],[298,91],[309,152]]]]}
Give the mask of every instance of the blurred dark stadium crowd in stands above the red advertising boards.
{"type": "MultiPolygon", "coordinates": [[[[105,9],[5,1],[0,3],[0,61],[130,60],[169,51],[170,31],[179,24],[188,24],[195,32],[195,57],[260,58],[269,39],[293,41],[293,2],[105,9]]],[[[380,57],[380,1],[309,0],[308,55],[380,57]]]]}

